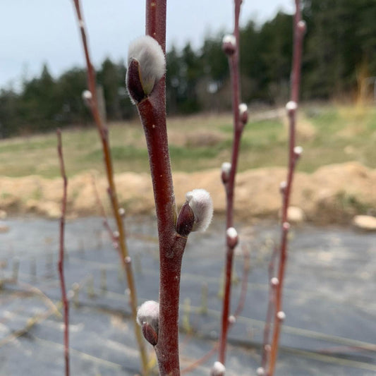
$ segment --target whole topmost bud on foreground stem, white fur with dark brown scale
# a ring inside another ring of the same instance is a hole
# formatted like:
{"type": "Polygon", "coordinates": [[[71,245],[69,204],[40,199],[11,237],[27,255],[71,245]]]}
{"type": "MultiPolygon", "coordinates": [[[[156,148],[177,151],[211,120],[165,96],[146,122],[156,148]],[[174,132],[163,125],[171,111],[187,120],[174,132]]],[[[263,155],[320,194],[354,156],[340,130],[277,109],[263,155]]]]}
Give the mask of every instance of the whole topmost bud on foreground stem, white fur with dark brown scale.
{"type": "Polygon", "coordinates": [[[126,85],[135,104],[150,95],[165,71],[166,59],[157,40],[144,35],[130,44],[126,85]]]}

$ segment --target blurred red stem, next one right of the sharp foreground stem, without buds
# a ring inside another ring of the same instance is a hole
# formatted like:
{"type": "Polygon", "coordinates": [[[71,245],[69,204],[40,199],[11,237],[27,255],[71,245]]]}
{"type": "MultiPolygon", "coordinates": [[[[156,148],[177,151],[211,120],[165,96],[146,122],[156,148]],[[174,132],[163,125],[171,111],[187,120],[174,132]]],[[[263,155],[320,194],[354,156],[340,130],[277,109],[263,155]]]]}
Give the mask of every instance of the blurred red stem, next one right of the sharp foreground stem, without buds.
{"type": "MultiPolygon", "coordinates": [[[[235,176],[238,165],[238,154],[240,149],[241,133],[243,124],[239,116],[240,104],[240,82],[239,82],[239,14],[241,8],[241,0],[234,1],[234,36],[236,37],[236,46],[234,54],[229,56],[230,77],[232,84],[232,109],[234,116],[234,143],[231,154],[231,171],[229,181],[226,183],[226,229],[234,226],[234,188],[235,176]]],[[[229,310],[231,305],[231,274],[234,258],[234,247],[227,245],[226,248],[226,267],[224,281],[224,300],[222,307],[222,331],[219,339],[219,362],[226,362],[226,342],[227,332],[229,330],[229,310]]]]}

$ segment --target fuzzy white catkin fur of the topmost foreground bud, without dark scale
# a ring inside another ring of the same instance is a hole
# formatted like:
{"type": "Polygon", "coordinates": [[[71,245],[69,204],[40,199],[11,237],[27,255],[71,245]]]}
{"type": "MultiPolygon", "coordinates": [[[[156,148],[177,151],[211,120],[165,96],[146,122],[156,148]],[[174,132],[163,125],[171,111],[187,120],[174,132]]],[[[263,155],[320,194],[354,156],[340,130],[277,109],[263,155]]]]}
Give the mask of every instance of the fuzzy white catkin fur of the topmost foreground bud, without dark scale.
{"type": "Polygon", "coordinates": [[[150,35],[139,37],[129,45],[128,65],[133,59],[138,61],[142,88],[149,95],[166,71],[162,47],[150,35]]]}

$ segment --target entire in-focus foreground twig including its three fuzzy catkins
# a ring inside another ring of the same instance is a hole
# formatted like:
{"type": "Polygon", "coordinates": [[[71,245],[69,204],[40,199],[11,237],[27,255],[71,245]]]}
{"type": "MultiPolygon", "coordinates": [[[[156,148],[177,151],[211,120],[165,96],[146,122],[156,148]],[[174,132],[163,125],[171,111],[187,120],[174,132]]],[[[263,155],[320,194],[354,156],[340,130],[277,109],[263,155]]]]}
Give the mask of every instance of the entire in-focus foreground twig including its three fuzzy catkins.
{"type": "Polygon", "coordinates": [[[166,0],[146,1],[146,35],[128,51],[127,87],[145,133],[159,238],[159,303],[140,307],[145,339],[154,346],[159,374],[180,375],[178,308],[181,261],[191,231],[205,231],[212,218],[209,193],[196,189],[176,217],[166,131],[166,0]],[[158,307],[158,308],[157,308],[158,307]]]}

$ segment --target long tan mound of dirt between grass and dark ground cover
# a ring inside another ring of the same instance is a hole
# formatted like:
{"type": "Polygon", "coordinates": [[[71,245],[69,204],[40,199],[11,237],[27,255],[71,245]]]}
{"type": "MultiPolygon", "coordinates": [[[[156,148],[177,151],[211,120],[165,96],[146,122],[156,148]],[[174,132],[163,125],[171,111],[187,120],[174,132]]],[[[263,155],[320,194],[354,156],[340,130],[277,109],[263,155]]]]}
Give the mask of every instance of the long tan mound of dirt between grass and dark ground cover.
{"type": "MultiPolygon", "coordinates": [[[[281,207],[279,183],[285,178],[286,169],[277,167],[238,174],[236,217],[277,218],[281,207]]],[[[323,166],[313,174],[296,173],[291,205],[300,207],[306,219],[312,222],[351,223],[354,215],[375,210],[375,187],[376,170],[356,162],[323,166]]],[[[212,195],[214,211],[217,214],[224,213],[224,188],[218,169],[193,174],[174,173],[174,188],[178,207],[183,204],[188,190],[205,188],[212,195]]],[[[154,212],[152,183],[148,174],[117,174],[116,189],[121,205],[128,214],[154,212]]],[[[103,176],[87,171],[71,178],[68,181],[68,217],[100,215],[96,190],[105,209],[110,212],[107,183],[103,176]]],[[[61,178],[0,177],[0,210],[8,214],[59,217],[61,194],[61,178]]]]}

